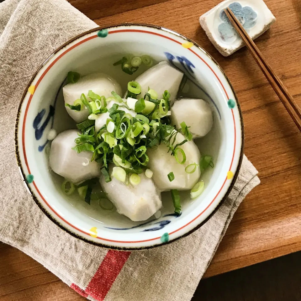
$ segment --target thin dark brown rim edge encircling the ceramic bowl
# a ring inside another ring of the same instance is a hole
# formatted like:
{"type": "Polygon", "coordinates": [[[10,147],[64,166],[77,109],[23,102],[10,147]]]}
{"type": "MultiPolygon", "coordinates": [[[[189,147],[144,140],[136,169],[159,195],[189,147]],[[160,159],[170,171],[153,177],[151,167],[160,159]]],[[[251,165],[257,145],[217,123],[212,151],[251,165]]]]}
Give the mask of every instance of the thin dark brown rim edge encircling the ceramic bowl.
{"type": "Polygon", "coordinates": [[[235,185],[235,182],[237,180],[237,177],[238,177],[238,174],[239,174],[239,171],[240,171],[240,167],[241,167],[241,164],[242,164],[242,160],[243,160],[243,150],[244,150],[244,144],[245,144],[245,132],[244,132],[244,122],[243,122],[243,117],[242,117],[242,111],[241,111],[241,108],[240,108],[240,103],[239,103],[239,100],[237,98],[237,94],[229,80],[229,78],[226,76],[226,74],[224,73],[223,69],[221,68],[221,66],[219,65],[219,63],[205,50],[203,49],[203,47],[201,47],[200,45],[198,45],[196,42],[194,42],[193,40],[187,38],[186,36],[178,33],[177,31],[175,30],[172,30],[172,29],[168,29],[166,27],[163,27],[163,26],[158,26],[158,25],[153,25],[153,24],[147,24],[147,23],[132,23],[132,22],[128,22],[128,23],[119,23],[117,25],[111,25],[111,26],[106,26],[106,27],[95,27],[93,29],[90,29],[90,30],[87,30],[81,34],[78,34],[76,35],[75,37],[71,38],[70,40],[66,41],[64,44],[62,44],[60,47],[56,48],[49,56],[48,58],[39,66],[39,68],[37,69],[37,71],[35,71],[35,73],[33,74],[33,76],[31,77],[31,79],[29,80],[29,83],[27,84],[25,90],[24,90],[24,93],[22,95],[22,98],[21,98],[21,101],[19,103],[19,106],[18,106],[18,112],[17,112],[17,117],[16,117],[16,124],[15,124],[15,137],[14,137],[14,140],[15,140],[15,155],[16,155],[16,159],[17,159],[17,164],[18,164],[18,167],[19,167],[19,170],[20,170],[20,173],[23,177],[23,180],[24,180],[24,183],[31,195],[31,197],[33,198],[34,202],[38,205],[38,207],[41,209],[41,211],[54,223],[56,224],[57,226],[59,226],[62,230],[66,231],[67,233],[69,233],[70,235],[72,235],[73,237],[76,237],[76,238],[79,238],[89,244],[92,244],[92,245],[95,245],[95,246],[100,246],[100,247],[104,247],[104,248],[107,248],[107,249],[114,249],[114,250],[119,250],[119,251],[141,251],[141,250],[147,250],[147,249],[152,249],[152,248],[155,248],[155,247],[159,247],[159,246],[163,246],[163,245],[167,245],[167,244],[170,244],[182,237],[185,237],[191,233],[193,233],[195,230],[198,230],[203,224],[205,224],[216,212],[217,210],[221,207],[221,205],[224,203],[224,201],[226,200],[226,198],[228,197],[230,191],[232,190],[232,188],[234,187],[235,185]],[[150,246],[140,246],[140,247],[126,247],[126,246],[123,246],[123,247],[120,247],[120,246],[109,246],[109,245],[105,245],[103,243],[98,243],[98,242],[95,242],[95,241],[92,241],[92,240],[88,240],[74,232],[72,232],[71,230],[67,229],[66,227],[64,227],[62,224],[59,223],[59,221],[57,219],[55,219],[54,217],[52,217],[48,212],[47,210],[44,208],[43,204],[39,201],[39,199],[35,196],[34,192],[31,190],[30,186],[28,185],[27,181],[26,181],[26,176],[25,176],[25,173],[23,171],[23,167],[22,167],[22,164],[21,164],[21,160],[20,160],[20,154],[19,154],[19,145],[18,145],[18,125],[19,125],[19,117],[20,117],[20,110],[21,110],[21,107],[22,107],[22,104],[24,102],[24,98],[25,98],[25,95],[26,93],[28,92],[28,88],[30,87],[31,83],[33,82],[34,78],[37,76],[37,74],[39,73],[39,71],[45,66],[45,64],[47,64],[47,62],[58,52],[60,51],[62,48],[64,48],[65,46],[67,46],[68,44],[72,43],[73,41],[77,40],[78,38],[81,38],[87,34],[90,34],[92,32],[95,32],[95,31],[99,31],[99,30],[103,30],[103,29],[110,29],[110,28],[116,28],[116,27],[121,27],[121,26],[144,26],[144,27],[148,27],[148,28],[156,28],[156,29],[161,29],[165,32],[169,32],[169,33],[172,33],[172,34],[175,34],[179,37],[181,37],[182,39],[184,40],[187,40],[188,42],[191,42],[193,43],[194,46],[196,46],[199,50],[203,51],[213,62],[214,64],[219,68],[219,70],[221,71],[221,73],[223,74],[224,78],[227,80],[233,94],[234,94],[234,97],[235,97],[235,101],[236,101],[236,104],[237,104],[237,108],[238,108],[238,112],[239,112],[239,117],[240,117],[240,125],[241,125],[241,148],[240,148],[240,157],[239,157],[239,161],[238,161],[238,165],[236,167],[236,171],[233,175],[233,179],[232,179],[232,182],[228,188],[228,190],[226,191],[226,193],[224,194],[224,196],[220,199],[219,203],[216,205],[216,207],[213,209],[213,211],[211,212],[211,214],[209,214],[209,216],[204,219],[202,222],[200,222],[198,225],[196,225],[192,230],[190,231],[187,231],[186,233],[184,233],[183,235],[181,236],[178,236],[178,237],[175,237],[174,239],[172,240],[168,240],[167,242],[164,242],[164,243],[158,243],[158,244],[153,244],[153,245],[150,245],[150,246]]]}

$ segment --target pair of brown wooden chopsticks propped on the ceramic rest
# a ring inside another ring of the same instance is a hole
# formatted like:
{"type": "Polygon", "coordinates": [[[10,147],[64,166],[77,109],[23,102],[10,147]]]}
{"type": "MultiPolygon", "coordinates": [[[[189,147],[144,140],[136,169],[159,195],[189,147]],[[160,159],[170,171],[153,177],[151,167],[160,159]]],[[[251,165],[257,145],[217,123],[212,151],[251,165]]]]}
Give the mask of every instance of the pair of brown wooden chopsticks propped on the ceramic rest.
{"type": "Polygon", "coordinates": [[[236,29],[237,33],[240,35],[241,39],[245,42],[248,50],[251,52],[251,55],[253,56],[261,71],[263,72],[263,74],[271,84],[272,88],[275,90],[276,94],[282,101],[284,107],[287,109],[288,113],[292,117],[298,129],[301,131],[300,107],[295,102],[292,95],[288,92],[288,89],[284,87],[283,82],[277,77],[276,73],[273,71],[267,60],[263,57],[253,40],[246,33],[246,30],[237,20],[231,9],[227,7],[226,9],[224,9],[224,12],[226,13],[233,27],[236,29]]]}

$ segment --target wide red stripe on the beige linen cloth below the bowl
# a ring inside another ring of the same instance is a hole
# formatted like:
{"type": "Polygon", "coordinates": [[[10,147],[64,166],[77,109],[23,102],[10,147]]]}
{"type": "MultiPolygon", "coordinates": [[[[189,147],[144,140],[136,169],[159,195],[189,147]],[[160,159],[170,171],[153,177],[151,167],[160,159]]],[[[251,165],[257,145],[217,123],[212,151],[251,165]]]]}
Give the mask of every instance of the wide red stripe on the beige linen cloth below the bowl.
{"type": "Polygon", "coordinates": [[[103,301],[130,254],[131,252],[109,250],[85,292],[95,300],[103,301]]]}

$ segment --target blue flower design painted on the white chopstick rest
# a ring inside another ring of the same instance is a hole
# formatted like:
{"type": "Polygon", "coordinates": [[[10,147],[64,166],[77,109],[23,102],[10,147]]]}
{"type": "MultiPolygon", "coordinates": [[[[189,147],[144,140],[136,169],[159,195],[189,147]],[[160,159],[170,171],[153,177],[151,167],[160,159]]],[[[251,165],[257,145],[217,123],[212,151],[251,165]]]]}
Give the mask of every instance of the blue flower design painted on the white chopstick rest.
{"type": "MultiPolygon", "coordinates": [[[[256,24],[257,13],[250,6],[242,7],[240,3],[234,2],[229,5],[229,8],[247,31],[256,24]]],[[[218,26],[220,38],[224,42],[234,42],[238,38],[238,35],[224,12],[224,9],[220,11],[219,18],[224,21],[218,26]]]]}

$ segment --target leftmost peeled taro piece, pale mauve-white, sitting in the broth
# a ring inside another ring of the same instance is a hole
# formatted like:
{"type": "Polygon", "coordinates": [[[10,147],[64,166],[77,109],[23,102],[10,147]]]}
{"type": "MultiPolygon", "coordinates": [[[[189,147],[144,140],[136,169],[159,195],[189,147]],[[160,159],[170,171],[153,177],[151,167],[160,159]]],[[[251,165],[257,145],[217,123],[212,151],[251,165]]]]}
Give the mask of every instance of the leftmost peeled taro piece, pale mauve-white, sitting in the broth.
{"type": "Polygon", "coordinates": [[[55,137],[50,147],[50,168],[68,181],[79,184],[98,177],[100,164],[91,162],[92,151],[82,151],[79,154],[72,147],[76,146],[74,139],[78,138],[78,130],[69,129],[55,137]]]}

